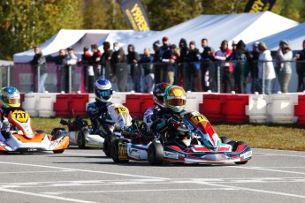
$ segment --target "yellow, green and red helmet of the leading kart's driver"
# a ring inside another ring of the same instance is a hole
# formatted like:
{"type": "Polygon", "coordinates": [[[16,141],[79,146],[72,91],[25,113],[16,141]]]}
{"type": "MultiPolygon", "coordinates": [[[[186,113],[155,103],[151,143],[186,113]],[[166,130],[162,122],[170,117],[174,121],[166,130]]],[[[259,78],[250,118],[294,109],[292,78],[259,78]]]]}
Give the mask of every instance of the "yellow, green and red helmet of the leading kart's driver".
{"type": "Polygon", "coordinates": [[[173,113],[180,113],[186,107],[187,95],[181,86],[167,86],[165,88],[165,108],[173,113]]]}

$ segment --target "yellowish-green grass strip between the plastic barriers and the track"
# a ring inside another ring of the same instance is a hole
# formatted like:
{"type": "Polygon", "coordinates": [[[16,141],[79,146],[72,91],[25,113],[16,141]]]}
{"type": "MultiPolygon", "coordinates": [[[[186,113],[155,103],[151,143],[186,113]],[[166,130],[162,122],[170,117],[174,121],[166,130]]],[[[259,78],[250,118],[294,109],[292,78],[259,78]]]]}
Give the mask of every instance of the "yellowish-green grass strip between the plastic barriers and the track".
{"type": "MultiPolygon", "coordinates": [[[[60,118],[32,118],[34,130],[50,133],[65,127],[60,118]]],[[[245,141],[253,148],[305,151],[305,125],[300,124],[212,124],[219,136],[245,141]]]]}

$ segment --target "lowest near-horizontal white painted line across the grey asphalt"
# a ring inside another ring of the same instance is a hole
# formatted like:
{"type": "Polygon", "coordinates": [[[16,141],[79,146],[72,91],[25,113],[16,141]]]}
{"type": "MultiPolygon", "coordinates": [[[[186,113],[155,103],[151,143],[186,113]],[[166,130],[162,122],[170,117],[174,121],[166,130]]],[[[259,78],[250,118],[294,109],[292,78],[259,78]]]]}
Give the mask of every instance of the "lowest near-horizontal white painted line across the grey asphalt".
{"type": "Polygon", "coordinates": [[[154,189],[154,190],[124,190],[124,191],[76,191],[76,192],[42,192],[42,194],[69,194],[69,193],[108,193],[108,192],[176,192],[176,191],[218,191],[218,190],[225,190],[225,191],[233,191],[238,190],[234,188],[224,188],[224,187],[218,187],[218,188],[194,188],[194,189],[186,189],[186,188],[176,188],[176,189],[154,189]]]}

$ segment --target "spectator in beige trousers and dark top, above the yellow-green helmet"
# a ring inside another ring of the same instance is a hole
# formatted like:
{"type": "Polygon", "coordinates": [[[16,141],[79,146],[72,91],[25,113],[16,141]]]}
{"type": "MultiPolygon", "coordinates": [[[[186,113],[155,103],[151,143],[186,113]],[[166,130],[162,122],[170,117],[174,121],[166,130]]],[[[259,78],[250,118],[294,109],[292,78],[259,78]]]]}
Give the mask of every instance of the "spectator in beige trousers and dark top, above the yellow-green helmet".
{"type": "Polygon", "coordinates": [[[176,71],[176,61],[179,57],[179,52],[177,51],[177,46],[172,44],[170,49],[164,52],[162,57],[162,62],[165,64],[164,69],[164,81],[172,85],[175,82],[175,71],[176,71]]]}

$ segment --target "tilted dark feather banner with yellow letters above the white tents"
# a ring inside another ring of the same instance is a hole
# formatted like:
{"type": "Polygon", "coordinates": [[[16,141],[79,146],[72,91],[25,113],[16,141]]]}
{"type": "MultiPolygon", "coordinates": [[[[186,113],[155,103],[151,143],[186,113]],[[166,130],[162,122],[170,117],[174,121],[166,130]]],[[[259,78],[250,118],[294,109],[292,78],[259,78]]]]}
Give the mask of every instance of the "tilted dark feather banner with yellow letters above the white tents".
{"type": "Polygon", "coordinates": [[[139,0],[124,0],[121,4],[121,11],[123,12],[128,25],[134,31],[149,31],[149,18],[146,11],[139,0]]]}

